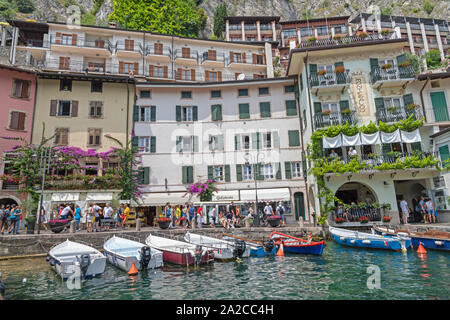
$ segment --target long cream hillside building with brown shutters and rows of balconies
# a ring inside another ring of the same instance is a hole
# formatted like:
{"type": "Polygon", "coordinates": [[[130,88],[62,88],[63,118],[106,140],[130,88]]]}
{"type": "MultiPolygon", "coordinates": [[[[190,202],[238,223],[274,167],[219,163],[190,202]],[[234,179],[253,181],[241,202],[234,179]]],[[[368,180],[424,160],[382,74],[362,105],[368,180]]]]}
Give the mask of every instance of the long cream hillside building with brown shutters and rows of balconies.
{"type": "MultiPolygon", "coordinates": [[[[273,75],[264,43],[230,43],[110,27],[10,21],[17,50],[42,70],[130,75],[137,81],[221,82],[273,75]]],[[[268,44],[270,48],[270,45],[268,44]]]]}

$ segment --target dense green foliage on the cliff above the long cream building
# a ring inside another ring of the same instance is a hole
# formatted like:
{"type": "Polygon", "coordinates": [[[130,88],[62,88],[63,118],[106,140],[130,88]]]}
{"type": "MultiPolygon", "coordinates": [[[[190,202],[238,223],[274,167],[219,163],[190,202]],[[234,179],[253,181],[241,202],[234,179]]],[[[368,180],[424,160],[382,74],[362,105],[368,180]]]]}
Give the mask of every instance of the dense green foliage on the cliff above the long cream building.
{"type": "Polygon", "coordinates": [[[194,0],[112,0],[110,21],[122,28],[197,37],[206,15],[194,0]]]}

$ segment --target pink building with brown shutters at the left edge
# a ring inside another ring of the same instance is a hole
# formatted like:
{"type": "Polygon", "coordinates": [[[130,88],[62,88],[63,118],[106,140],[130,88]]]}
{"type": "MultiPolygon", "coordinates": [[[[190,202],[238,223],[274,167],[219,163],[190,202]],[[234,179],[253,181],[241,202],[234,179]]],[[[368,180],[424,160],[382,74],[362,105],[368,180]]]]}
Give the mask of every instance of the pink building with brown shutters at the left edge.
{"type": "MultiPolygon", "coordinates": [[[[33,129],[33,111],[36,78],[32,71],[0,64],[0,137],[20,137],[30,141],[33,129]]],[[[26,194],[16,190],[18,185],[8,181],[8,162],[5,152],[18,141],[0,138],[0,203],[21,203],[26,194]]]]}

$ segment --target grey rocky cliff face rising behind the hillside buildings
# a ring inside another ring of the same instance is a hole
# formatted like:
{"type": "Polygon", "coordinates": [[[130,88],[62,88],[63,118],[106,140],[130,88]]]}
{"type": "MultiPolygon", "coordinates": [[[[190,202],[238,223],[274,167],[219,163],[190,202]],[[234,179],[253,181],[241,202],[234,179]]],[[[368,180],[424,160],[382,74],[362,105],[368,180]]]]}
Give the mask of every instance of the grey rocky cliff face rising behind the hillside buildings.
{"type": "MultiPolygon", "coordinates": [[[[203,8],[208,21],[201,36],[211,34],[215,8],[224,0],[203,0],[203,8]]],[[[431,17],[450,20],[449,0],[226,0],[230,16],[280,16],[281,20],[321,18],[331,16],[355,15],[359,12],[373,12],[378,8],[382,14],[404,15],[412,17],[431,17]],[[426,5],[430,3],[431,6],[426,5]]],[[[70,15],[70,5],[78,3],[82,13],[93,13],[94,0],[34,0],[36,10],[19,18],[31,18],[39,21],[66,21],[70,15]]],[[[112,12],[111,0],[104,0],[95,14],[96,24],[106,24],[112,12]]]]}

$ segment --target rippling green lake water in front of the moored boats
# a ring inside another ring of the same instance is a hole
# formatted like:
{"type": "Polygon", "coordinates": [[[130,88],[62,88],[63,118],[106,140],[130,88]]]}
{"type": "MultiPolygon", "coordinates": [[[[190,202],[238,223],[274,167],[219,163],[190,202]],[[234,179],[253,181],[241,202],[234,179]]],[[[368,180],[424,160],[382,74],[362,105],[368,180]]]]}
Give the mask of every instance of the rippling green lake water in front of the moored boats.
{"type": "Polygon", "coordinates": [[[0,261],[5,299],[449,299],[450,253],[358,250],[329,241],[321,257],[248,258],[135,278],[109,264],[102,277],[69,290],[44,258],[0,261]],[[369,265],[380,289],[368,289],[369,265]],[[23,279],[26,278],[25,283],[23,279]]]}

